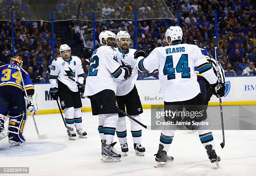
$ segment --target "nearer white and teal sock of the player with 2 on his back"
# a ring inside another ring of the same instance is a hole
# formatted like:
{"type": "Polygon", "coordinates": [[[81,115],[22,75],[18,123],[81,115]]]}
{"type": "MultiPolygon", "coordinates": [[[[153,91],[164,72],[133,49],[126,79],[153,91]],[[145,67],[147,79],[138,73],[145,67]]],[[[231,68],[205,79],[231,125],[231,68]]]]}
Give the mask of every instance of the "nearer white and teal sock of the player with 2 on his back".
{"type": "Polygon", "coordinates": [[[118,114],[104,114],[102,115],[104,118],[104,126],[103,133],[106,140],[106,144],[110,145],[113,142],[115,135],[115,128],[118,121],[118,114]]]}

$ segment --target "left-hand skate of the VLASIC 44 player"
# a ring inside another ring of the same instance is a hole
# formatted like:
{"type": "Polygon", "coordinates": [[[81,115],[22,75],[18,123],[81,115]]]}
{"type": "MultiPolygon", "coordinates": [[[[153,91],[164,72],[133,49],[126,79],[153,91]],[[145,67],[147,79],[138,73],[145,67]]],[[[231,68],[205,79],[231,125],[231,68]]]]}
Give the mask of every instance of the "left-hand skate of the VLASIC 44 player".
{"type": "Polygon", "coordinates": [[[155,160],[156,160],[155,167],[161,167],[167,161],[173,161],[174,160],[174,158],[172,156],[168,156],[167,152],[164,151],[163,149],[164,149],[164,146],[159,144],[158,152],[156,154],[154,154],[154,156],[156,156],[156,158],[155,158],[155,160]]]}

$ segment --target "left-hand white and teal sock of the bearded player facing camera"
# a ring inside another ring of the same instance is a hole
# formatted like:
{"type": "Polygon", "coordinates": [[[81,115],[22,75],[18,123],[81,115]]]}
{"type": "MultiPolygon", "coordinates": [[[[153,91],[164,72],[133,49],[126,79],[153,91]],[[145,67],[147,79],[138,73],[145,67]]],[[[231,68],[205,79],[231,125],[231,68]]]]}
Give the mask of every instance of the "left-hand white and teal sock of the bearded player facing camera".
{"type": "Polygon", "coordinates": [[[126,122],[125,117],[119,117],[116,125],[116,135],[120,144],[127,143],[127,132],[126,132],[126,122]]]}

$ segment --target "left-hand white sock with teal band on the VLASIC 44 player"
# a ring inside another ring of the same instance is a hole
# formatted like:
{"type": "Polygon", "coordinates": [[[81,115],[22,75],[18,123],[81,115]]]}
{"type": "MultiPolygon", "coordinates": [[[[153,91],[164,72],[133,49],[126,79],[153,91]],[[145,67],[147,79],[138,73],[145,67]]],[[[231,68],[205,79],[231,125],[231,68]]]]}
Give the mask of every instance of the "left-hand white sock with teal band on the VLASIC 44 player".
{"type": "Polygon", "coordinates": [[[160,136],[160,144],[164,146],[164,151],[168,152],[172,143],[174,133],[176,130],[162,130],[160,136]]]}

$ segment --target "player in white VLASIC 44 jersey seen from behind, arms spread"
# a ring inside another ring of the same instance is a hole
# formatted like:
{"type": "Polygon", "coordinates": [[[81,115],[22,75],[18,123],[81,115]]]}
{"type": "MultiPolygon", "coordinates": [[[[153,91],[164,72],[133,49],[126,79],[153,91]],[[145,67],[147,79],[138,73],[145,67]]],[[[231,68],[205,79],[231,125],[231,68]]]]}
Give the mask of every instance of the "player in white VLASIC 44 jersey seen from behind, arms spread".
{"type": "MultiPolygon", "coordinates": [[[[201,110],[199,105],[204,105],[204,100],[194,71],[195,66],[197,66],[199,73],[211,84],[212,89],[218,96],[224,95],[225,87],[218,86],[217,77],[211,68],[212,66],[205,59],[198,46],[180,43],[182,35],[182,29],[179,26],[171,26],[165,33],[165,39],[170,46],[155,48],[148,57],[146,57],[145,52],[136,51],[134,58],[137,59],[137,68],[141,72],[159,70],[159,81],[163,90],[165,110],[181,112],[182,108],[185,107],[187,111],[196,110],[199,112],[201,110]]],[[[181,120],[181,116],[167,117],[166,115],[165,120],[175,123],[181,120]]],[[[202,120],[205,120],[204,116],[198,119],[197,122],[202,120]]],[[[155,167],[162,166],[168,160],[173,161],[173,157],[167,156],[176,131],[172,128],[165,125],[161,132],[155,167]]],[[[198,130],[198,134],[211,163],[215,163],[215,167],[217,167],[220,157],[215,152],[211,131],[198,130]]]]}

